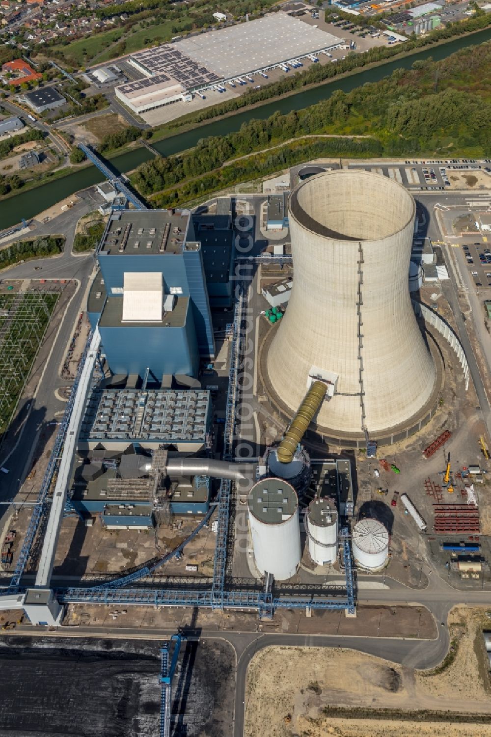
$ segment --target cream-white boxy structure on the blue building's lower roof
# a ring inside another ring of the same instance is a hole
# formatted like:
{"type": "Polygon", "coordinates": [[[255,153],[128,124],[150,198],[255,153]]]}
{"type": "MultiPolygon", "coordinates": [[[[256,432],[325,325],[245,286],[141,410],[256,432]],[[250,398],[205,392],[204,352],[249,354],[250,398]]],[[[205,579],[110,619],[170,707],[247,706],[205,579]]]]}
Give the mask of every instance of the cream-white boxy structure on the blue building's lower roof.
{"type": "Polygon", "coordinates": [[[164,289],[156,271],[125,271],[122,322],[161,322],[164,289]]]}

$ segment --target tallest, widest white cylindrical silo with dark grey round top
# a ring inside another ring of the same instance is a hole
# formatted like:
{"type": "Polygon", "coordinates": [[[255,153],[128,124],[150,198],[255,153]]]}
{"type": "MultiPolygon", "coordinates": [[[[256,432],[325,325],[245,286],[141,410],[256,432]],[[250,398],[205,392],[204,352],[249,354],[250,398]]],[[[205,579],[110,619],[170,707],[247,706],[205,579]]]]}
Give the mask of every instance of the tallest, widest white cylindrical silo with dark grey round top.
{"type": "Polygon", "coordinates": [[[281,478],[264,478],[248,495],[249,526],[257,570],[278,581],[300,565],[299,498],[281,478]]]}

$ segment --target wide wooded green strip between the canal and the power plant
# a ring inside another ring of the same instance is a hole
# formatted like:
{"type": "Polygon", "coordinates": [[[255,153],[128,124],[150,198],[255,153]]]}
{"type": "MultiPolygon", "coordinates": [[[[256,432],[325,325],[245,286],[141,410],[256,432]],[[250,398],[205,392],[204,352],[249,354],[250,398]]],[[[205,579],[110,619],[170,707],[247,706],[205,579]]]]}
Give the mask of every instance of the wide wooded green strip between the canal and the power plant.
{"type": "Polygon", "coordinates": [[[490,66],[491,42],[437,63],[417,60],[410,70],[398,69],[348,94],[335,91],[310,108],[251,120],[237,133],[147,161],[131,181],[144,195],[160,192],[156,202],[167,206],[318,156],[448,156],[456,151],[491,156],[490,66]],[[291,143],[323,134],[367,138],[291,143]],[[290,143],[265,151],[283,142],[290,143]],[[254,151],[256,156],[234,161],[254,151]]]}

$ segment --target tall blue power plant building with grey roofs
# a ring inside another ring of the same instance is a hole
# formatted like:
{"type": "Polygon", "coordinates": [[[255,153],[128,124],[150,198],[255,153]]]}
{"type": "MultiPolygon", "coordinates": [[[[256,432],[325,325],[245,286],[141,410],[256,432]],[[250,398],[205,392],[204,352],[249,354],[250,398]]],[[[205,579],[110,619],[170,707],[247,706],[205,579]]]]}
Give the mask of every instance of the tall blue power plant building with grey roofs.
{"type": "MultiPolygon", "coordinates": [[[[220,201],[220,200],[219,200],[220,201]]],[[[220,212],[121,210],[109,217],[88,296],[112,374],[198,375],[215,356],[210,301],[231,304],[230,200],[220,212]]]]}

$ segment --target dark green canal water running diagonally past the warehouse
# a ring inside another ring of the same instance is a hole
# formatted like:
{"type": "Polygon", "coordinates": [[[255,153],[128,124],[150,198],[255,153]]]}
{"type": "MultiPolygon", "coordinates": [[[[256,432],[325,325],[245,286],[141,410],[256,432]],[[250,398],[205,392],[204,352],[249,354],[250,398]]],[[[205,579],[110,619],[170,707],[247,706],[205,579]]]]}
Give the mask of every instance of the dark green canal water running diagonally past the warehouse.
{"type": "MultiPolygon", "coordinates": [[[[239,130],[243,123],[251,119],[263,119],[273,115],[274,112],[289,113],[292,110],[301,110],[309,105],[315,105],[321,99],[327,99],[336,90],[349,92],[355,87],[366,84],[367,82],[377,82],[383,77],[387,77],[394,69],[410,69],[412,64],[417,60],[432,57],[433,60],[440,60],[455,53],[464,46],[475,46],[484,41],[490,41],[491,28],[485,29],[471,36],[456,38],[454,41],[442,43],[441,46],[433,46],[424,49],[418,54],[410,55],[403,59],[397,59],[386,64],[377,66],[373,69],[359,71],[352,74],[351,77],[333,81],[329,84],[317,85],[314,88],[297,92],[289,97],[277,99],[266,105],[261,105],[253,110],[246,110],[243,113],[237,113],[228,118],[215,120],[203,125],[195,130],[187,130],[184,133],[178,133],[176,136],[153,144],[153,147],[163,156],[171,156],[174,153],[184,151],[195,144],[202,138],[207,136],[225,136],[235,130],[239,130]]],[[[135,169],[139,164],[153,158],[152,153],[145,147],[139,147],[123,153],[120,156],[111,158],[111,163],[120,172],[129,172],[135,169]]],[[[8,228],[16,223],[20,223],[21,219],[34,217],[39,212],[51,207],[55,203],[63,200],[63,198],[73,195],[79,189],[85,189],[88,186],[97,184],[102,181],[102,175],[96,167],[87,167],[79,170],[66,177],[50,182],[46,180],[46,184],[32,189],[29,192],[19,192],[15,197],[0,201],[0,230],[8,228]]]]}

